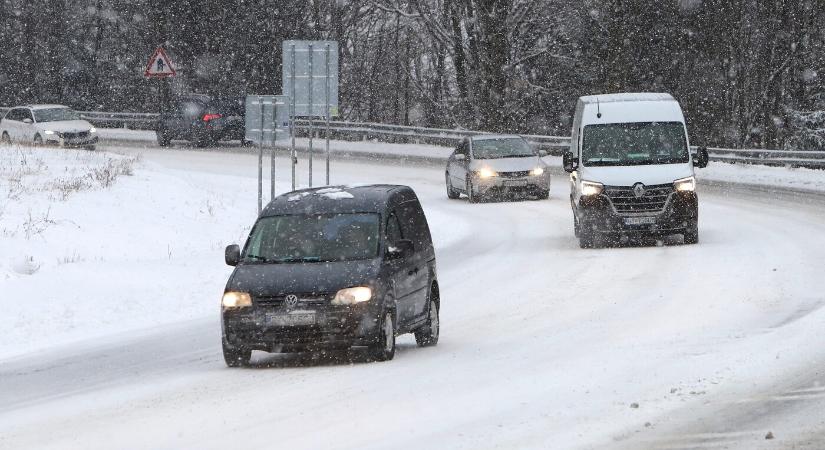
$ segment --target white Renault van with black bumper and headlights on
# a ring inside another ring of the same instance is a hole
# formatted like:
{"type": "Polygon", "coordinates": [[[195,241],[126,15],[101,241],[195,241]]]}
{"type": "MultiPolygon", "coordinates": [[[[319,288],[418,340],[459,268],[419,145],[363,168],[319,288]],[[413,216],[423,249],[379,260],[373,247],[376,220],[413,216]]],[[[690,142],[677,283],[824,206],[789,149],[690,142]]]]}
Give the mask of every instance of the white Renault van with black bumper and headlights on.
{"type": "Polygon", "coordinates": [[[697,243],[693,169],[707,163],[707,149],[691,154],[682,109],[670,94],[580,97],[564,170],[581,247],[623,234],[681,234],[686,244],[697,243]]]}

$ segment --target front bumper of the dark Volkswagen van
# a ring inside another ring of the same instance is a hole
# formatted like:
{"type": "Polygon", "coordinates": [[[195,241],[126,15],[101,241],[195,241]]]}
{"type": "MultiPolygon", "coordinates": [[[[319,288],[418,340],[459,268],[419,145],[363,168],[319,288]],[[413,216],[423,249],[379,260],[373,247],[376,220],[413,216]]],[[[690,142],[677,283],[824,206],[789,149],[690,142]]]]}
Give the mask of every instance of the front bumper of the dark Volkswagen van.
{"type": "Polygon", "coordinates": [[[380,313],[371,302],[351,306],[302,307],[313,312],[313,325],[272,325],[268,315],[284,314],[282,307],[252,306],[221,312],[226,341],[252,350],[301,351],[314,348],[366,346],[379,338],[380,313]]]}

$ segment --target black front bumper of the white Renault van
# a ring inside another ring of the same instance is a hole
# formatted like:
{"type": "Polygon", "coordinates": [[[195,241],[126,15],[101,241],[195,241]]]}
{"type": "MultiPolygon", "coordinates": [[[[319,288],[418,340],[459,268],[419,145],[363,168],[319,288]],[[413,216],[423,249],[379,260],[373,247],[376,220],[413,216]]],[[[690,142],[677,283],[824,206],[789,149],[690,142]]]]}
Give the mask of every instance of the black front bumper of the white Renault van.
{"type": "Polygon", "coordinates": [[[579,224],[585,232],[667,236],[683,233],[695,225],[699,200],[695,192],[675,192],[661,212],[619,214],[606,196],[597,195],[581,197],[577,209],[579,224]],[[634,220],[646,223],[631,223],[634,220]]]}

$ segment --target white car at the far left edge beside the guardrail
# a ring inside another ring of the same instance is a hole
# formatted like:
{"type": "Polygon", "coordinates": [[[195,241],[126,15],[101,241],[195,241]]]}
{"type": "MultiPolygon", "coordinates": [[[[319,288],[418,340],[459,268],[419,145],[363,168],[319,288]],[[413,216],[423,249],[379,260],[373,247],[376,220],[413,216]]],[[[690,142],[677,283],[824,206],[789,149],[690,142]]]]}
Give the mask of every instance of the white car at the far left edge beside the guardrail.
{"type": "Polygon", "coordinates": [[[97,130],[66,106],[18,106],[10,109],[0,120],[0,142],[94,150],[97,130]]]}

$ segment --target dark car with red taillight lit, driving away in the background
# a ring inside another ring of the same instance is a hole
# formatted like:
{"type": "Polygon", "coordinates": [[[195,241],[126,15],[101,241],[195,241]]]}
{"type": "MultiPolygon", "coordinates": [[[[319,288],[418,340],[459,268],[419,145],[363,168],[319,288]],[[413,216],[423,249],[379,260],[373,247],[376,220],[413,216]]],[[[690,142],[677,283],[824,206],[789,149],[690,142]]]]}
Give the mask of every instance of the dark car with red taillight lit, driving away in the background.
{"type": "Polygon", "coordinates": [[[160,114],[156,128],[158,145],[166,147],[173,139],[190,141],[198,147],[221,140],[245,143],[245,112],[242,97],[181,97],[160,114]]]}

